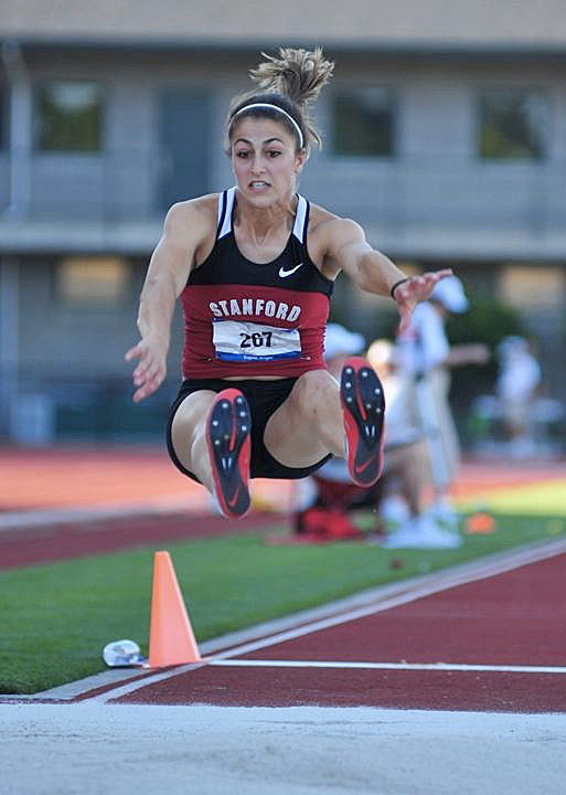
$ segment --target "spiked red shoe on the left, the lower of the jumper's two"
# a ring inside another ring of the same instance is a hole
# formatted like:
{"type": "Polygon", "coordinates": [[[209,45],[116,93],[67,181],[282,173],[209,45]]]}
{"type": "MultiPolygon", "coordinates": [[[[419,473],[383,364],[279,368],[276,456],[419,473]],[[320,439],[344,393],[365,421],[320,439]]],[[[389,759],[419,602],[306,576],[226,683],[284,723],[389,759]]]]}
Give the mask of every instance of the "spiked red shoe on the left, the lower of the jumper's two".
{"type": "Polygon", "coordinates": [[[216,499],[228,519],[243,517],[249,510],[250,428],[249,406],[242,392],[218,392],[209,411],[206,444],[216,499]]]}

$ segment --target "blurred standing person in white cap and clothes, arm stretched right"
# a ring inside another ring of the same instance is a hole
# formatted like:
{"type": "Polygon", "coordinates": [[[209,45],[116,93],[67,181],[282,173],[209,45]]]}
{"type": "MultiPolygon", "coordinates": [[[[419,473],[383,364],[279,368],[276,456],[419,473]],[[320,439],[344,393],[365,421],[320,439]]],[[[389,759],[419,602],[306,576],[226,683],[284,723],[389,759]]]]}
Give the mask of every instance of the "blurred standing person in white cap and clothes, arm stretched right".
{"type": "Polygon", "coordinates": [[[450,370],[462,364],[483,364],[490,353],[482,343],[450,346],[445,324],[450,314],[469,308],[457,276],[439,282],[430,298],[416,307],[410,325],[398,336],[399,367],[410,383],[415,416],[423,431],[436,492],[432,511],[453,529],[456,511],[447,499],[460,465],[460,444],[448,393],[450,370]]]}

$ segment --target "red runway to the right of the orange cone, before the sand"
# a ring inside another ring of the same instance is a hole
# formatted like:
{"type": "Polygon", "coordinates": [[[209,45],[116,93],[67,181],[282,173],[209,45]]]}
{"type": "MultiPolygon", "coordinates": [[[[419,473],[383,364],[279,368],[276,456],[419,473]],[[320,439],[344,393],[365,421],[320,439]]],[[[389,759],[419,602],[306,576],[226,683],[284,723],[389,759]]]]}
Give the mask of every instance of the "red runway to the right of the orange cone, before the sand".
{"type": "MultiPolygon", "coordinates": [[[[566,554],[266,646],[239,660],[566,665],[566,554]]],[[[564,672],[205,665],[120,703],[566,711],[564,672]]],[[[90,693],[92,695],[92,693],[90,693]]],[[[118,693],[117,693],[118,695],[118,693]]],[[[108,693],[108,701],[113,701],[108,693]]]]}

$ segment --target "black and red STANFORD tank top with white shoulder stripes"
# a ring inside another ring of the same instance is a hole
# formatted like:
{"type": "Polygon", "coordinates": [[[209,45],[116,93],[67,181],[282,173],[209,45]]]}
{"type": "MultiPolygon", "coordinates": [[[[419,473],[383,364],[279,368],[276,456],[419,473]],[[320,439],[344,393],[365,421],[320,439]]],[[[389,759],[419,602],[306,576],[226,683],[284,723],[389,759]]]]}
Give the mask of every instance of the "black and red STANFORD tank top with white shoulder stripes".
{"type": "Polygon", "coordinates": [[[218,195],[216,241],[181,294],[183,377],[291,378],[324,368],[324,328],[333,282],[307,251],[309,202],[298,195],[281,254],[254,263],[234,236],[236,188],[218,195]]]}

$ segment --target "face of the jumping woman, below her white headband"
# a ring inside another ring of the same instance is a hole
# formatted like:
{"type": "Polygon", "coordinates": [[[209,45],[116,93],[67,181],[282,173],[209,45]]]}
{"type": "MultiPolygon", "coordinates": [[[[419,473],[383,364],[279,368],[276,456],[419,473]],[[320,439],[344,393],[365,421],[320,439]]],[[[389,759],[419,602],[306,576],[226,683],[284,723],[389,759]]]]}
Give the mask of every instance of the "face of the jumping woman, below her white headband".
{"type": "Polygon", "coordinates": [[[306,155],[287,128],[267,118],[244,117],[232,132],[232,168],[242,193],[259,206],[295,191],[306,155]]]}

